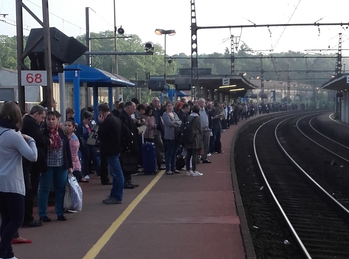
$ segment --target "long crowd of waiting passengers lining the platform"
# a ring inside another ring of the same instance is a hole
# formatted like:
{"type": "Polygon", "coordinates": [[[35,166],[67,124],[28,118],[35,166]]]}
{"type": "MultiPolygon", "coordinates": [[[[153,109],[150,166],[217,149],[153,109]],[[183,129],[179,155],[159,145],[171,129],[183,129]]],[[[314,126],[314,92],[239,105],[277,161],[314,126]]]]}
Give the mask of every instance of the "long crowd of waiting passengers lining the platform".
{"type": "Polygon", "coordinates": [[[112,185],[104,204],[120,204],[124,189],[139,185],[132,176],[143,172],[142,143],[154,143],[156,169],[166,175],[202,176],[197,165],[210,164],[211,154],[223,153],[221,133],[239,120],[290,109],[288,104],[212,102],[181,99],[176,103],[131,101],[98,105],[80,111],[75,121],[73,108],[61,114],[35,105],[29,113],[15,102],[0,111],[0,259],[13,258],[11,243],[30,243],[18,234],[19,227],[39,227],[50,222],[47,203],[54,186],[55,213],[67,220],[64,197],[68,175],[88,183],[91,174],[102,185],[112,185]],[[96,121],[95,121],[95,118],[96,121]],[[89,142],[95,133],[98,138],[89,142]],[[23,157],[23,158],[22,158],[23,157]],[[111,176],[111,179],[110,179],[111,176]],[[37,196],[39,219],[33,217],[37,196]]]}

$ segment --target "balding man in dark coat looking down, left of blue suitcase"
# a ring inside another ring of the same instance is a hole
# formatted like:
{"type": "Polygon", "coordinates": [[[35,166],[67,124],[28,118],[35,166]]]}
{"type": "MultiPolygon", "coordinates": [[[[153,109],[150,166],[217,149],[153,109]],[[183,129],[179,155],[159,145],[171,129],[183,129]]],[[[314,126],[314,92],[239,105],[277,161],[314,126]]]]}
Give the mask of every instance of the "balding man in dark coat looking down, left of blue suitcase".
{"type": "Polygon", "coordinates": [[[128,130],[130,130],[133,134],[132,144],[129,147],[128,152],[121,154],[120,159],[122,172],[124,173],[125,189],[133,189],[134,187],[139,186],[138,184],[135,184],[131,181],[131,174],[137,173],[138,164],[141,164],[142,161],[141,140],[139,136],[139,131],[133,119],[131,118],[135,110],[136,104],[134,102],[126,102],[124,109],[121,111],[119,115],[119,119],[121,120],[121,122],[124,123],[128,130]],[[135,159],[135,161],[132,162],[132,165],[129,166],[126,160],[129,161],[129,158],[131,157],[137,159],[135,159]]]}

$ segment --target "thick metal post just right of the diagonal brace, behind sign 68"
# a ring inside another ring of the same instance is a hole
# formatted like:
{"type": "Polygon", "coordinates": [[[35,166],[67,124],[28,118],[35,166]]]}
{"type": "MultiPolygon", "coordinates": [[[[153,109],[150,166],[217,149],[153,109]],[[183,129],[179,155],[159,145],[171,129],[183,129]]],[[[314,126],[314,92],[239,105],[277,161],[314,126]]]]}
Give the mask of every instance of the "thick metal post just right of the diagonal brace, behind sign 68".
{"type": "Polygon", "coordinates": [[[53,109],[53,81],[52,81],[52,62],[51,62],[51,42],[50,42],[50,24],[49,24],[49,1],[42,0],[43,6],[43,28],[44,28],[44,55],[45,55],[45,68],[47,73],[47,86],[46,86],[46,107],[48,110],[53,109]]]}

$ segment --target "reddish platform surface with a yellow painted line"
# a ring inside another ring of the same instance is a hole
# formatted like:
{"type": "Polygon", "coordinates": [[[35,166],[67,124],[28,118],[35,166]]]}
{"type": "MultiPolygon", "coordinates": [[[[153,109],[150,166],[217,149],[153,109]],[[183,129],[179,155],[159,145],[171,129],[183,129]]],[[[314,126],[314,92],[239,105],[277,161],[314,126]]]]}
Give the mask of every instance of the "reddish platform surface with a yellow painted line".
{"type": "MultiPolygon", "coordinates": [[[[83,208],[38,228],[21,228],[31,244],[13,245],[20,259],[244,259],[230,170],[233,125],[222,133],[222,154],[198,165],[203,176],[136,175],[122,204],[105,205],[111,186],[95,175],[81,183],[83,208]]],[[[37,211],[35,211],[37,216],[37,211]]]]}

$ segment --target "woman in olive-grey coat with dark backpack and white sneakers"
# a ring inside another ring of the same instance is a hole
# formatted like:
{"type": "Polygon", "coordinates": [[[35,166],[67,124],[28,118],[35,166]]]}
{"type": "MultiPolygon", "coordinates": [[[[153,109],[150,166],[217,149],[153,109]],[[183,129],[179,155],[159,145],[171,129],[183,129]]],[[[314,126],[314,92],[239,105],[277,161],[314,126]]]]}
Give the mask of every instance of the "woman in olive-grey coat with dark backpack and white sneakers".
{"type": "Polygon", "coordinates": [[[185,157],[185,166],[187,167],[187,175],[201,176],[202,173],[196,171],[196,158],[201,150],[203,150],[202,143],[202,128],[201,119],[199,117],[200,107],[198,104],[193,105],[192,113],[188,117],[188,122],[191,126],[191,134],[193,135],[194,142],[186,143],[185,149],[187,155],[185,157]],[[192,158],[192,170],[190,170],[190,159],[192,158]]]}

